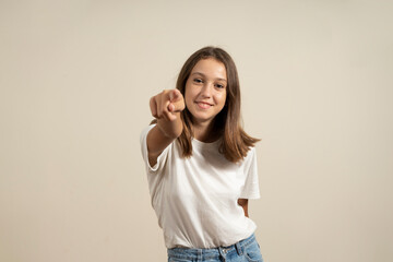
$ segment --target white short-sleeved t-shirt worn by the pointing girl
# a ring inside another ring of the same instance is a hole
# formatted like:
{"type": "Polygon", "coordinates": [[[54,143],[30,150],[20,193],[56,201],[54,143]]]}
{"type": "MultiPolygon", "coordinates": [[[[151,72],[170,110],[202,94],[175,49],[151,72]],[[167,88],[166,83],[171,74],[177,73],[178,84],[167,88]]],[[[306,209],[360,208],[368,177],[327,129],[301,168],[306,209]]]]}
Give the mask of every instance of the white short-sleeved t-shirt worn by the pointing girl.
{"type": "Polygon", "coordinates": [[[142,131],[141,148],[166,247],[227,247],[251,236],[257,225],[237,201],[260,198],[255,148],[234,164],[218,153],[219,141],[193,139],[192,156],[182,158],[175,140],[151,167],[146,136],[154,126],[142,131]]]}

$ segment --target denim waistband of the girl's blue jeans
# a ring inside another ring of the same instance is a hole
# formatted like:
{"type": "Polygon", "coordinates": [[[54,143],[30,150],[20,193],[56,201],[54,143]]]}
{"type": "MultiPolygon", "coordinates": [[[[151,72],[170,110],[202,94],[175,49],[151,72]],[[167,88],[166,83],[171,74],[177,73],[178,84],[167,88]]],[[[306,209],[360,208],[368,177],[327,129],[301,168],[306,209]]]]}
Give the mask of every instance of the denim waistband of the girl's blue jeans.
{"type": "Polygon", "coordinates": [[[240,240],[234,245],[230,245],[228,247],[218,247],[218,248],[211,248],[211,249],[190,249],[190,248],[172,248],[168,249],[168,255],[174,258],[182,259],[184,257],[187,258],[213,258],[216,255],[223,255],[225,257],[227,253],[230,252],[238,252],[239,255],[242,254],[243,248],[246,248],[248,245],[255,241],[255,236],[252,234],[250,237],[240,240]]]}

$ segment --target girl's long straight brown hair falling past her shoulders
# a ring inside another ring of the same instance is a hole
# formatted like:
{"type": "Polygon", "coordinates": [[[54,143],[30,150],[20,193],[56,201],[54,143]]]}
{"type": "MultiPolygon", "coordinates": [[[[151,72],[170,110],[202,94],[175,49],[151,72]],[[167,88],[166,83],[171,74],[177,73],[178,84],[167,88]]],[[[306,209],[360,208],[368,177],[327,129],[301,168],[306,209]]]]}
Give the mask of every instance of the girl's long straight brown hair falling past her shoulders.
{"type": "MultiPolygon", "coordinates": [[[[223,140],[219,144],[219,152],[233,163],[241,160],[249,151],[250,146],[260,141],[259,139],[248,135],[240,124],[240,84],[237,69],[231,57],[218,47],[207,46],[194,53],[186,61],[180,70],[176,88],[178,88],[184,96],[186,82],[190,76],[193,67],[201,60],[214,58],[224,63],[227,74],[227,96],[225,106],[221,112],[214,118],[214,130],[223,140]]],[[[182,156],[190,157],[192,155],[192,116],[191,112],[184,108],[180,114],[183,120],[183,131],[177,139],[182,148],[182,156]]]]}

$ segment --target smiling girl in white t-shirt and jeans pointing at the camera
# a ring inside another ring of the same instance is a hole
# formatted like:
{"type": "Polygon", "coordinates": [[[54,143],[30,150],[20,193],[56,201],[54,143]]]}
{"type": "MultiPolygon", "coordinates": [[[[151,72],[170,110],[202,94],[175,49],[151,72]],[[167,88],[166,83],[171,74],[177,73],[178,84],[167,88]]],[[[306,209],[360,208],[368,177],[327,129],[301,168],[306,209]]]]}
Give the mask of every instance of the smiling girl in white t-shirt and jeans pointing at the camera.
{"type": "Polygon", "coordinates": [[[141,133],[152,206],[168,261],[263,261],[248,215],[259,199],[258,139],[240,124],[236,66],[205,47],[186,61],[175,90],[153,96],[141,133]]]}

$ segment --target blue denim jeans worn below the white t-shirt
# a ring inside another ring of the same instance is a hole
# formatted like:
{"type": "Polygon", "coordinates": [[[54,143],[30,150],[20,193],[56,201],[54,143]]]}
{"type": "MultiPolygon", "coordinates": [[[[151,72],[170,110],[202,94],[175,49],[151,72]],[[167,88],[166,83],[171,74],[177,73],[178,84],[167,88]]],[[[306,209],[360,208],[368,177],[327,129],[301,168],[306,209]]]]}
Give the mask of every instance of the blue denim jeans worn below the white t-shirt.
{"type": "Polygon", "coordinates": [[[254,234],[229,247],[168,249],[168,262],[263,262],[254,234]]]}

